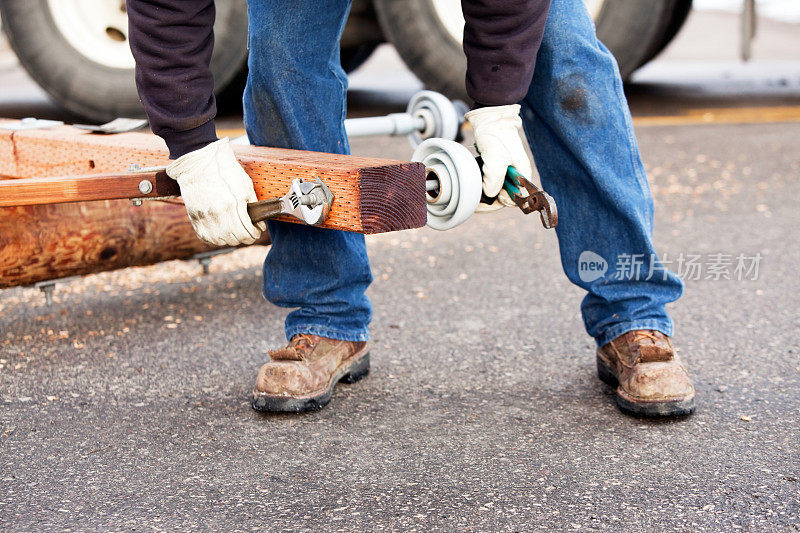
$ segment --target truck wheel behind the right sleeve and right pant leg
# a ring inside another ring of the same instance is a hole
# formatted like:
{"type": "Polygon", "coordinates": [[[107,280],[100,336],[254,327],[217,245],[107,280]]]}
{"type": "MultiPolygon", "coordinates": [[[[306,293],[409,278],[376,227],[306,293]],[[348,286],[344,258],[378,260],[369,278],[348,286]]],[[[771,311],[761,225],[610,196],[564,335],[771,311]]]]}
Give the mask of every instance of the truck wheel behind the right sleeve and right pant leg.
{"type": "MultiPolygon", "coordinates": [[[[467,98],[459,0],[373,2],[384,34],[414,74],[430,89],[450,98],[467,98]]],[[[687,3],[691,0],[587,1],[597,34],[617,58],[623,78],[674,37],[680,27],[674,23],[680,17],[673,12],[686,9],[687,3]]]]}

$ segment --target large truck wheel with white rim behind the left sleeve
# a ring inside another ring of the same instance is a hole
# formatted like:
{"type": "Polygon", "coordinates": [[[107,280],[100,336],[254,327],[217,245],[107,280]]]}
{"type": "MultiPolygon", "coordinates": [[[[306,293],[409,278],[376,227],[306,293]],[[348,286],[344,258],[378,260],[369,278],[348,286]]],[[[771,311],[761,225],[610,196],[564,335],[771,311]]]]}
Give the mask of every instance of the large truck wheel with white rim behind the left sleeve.
{"type": "MultiPolygon", "coordinates": [[[[219,92],[247,56],[247,9],[244,0],[216,4],[211,71],[219,92]]],[[[143,116],[124,0],[0,0],[0,16],[22,66],[62,107],[97,122],[143,116]]]]}

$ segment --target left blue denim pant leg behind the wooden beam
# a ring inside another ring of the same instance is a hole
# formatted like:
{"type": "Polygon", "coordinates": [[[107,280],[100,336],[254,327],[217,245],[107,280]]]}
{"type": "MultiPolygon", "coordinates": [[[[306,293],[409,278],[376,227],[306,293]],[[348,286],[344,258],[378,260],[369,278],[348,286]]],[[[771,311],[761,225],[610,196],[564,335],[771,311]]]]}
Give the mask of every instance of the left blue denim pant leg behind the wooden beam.
{"type": "MultiPolygon", "coordinates": [[[[259,146],[346,154],[347,76],[339,37],[349,0],[249,0],[250,73],[244,120],[259,146]]],[[[286,317],[286,336],[367,340],[372,282],[364,236],[269,222],[264,296],[286,317]]]]}

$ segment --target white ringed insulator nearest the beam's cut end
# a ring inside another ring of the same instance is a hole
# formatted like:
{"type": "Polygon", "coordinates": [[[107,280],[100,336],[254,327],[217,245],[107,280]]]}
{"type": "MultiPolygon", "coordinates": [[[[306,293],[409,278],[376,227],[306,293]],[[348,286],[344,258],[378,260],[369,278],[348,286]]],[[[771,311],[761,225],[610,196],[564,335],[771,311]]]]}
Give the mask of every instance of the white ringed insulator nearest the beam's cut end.
{"type": "Polygon", "coordinates": [[[427,139],[411,160],[425,165],[428,180],[439,181],[436,196],[428,193],[428,226],[448,230],[472,216],[481,199],[482,179],[478,163],[466,147],[446,139],[427,139]]]}

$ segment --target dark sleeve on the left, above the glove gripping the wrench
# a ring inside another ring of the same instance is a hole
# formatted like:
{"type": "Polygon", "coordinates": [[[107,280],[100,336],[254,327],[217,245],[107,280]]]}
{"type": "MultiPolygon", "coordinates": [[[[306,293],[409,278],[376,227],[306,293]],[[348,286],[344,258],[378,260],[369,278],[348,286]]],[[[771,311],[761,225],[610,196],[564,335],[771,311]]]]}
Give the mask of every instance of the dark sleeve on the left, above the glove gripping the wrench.
{"type": "Polygon", "coordinates": [[[173,159],[217,140],[214,16],[214,0],[128,0],[136,87],[173,159]]]}

